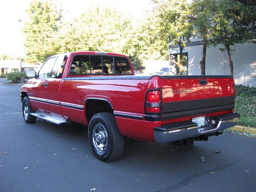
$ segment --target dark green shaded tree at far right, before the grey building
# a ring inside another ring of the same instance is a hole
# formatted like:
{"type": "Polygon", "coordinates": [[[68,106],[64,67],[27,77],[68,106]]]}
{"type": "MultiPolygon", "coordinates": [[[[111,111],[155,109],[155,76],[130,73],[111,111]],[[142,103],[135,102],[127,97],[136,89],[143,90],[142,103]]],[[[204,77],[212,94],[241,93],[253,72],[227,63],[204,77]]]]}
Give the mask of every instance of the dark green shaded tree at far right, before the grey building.
{"type": "Polygon", "coordinates": [[[226,49],[230,64],[230,75],[233,75],[232,48],[238,43],[254,42],[256,32],[256,5],[250,1],[220,0],[220,11],[216,14],[214,38],[226,49]]]}

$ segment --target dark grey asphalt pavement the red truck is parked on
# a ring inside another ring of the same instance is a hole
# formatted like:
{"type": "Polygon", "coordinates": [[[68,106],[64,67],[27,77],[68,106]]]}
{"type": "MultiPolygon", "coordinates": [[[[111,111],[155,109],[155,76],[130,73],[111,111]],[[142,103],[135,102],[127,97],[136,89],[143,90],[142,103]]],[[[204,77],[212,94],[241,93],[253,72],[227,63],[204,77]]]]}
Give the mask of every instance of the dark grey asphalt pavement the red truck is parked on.
{"type": "Polygon", "coordinates": [[[0,80],[1,192],[254,192],[256,138],[224,132],[192,146],[125,140],[120,159],[97,160],[79,124],[26,124],[21,85],[0,80]]]}

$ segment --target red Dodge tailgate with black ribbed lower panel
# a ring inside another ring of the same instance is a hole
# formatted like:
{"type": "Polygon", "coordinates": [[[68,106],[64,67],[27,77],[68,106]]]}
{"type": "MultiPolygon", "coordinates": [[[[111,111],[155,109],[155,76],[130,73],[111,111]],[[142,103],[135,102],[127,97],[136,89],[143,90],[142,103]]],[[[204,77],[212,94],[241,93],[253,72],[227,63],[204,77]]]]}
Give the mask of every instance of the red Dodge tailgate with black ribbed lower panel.
{"type": "Polygon", "coordinates": [[[162,120],[234,109],[232,76],[162,76],[162,120]]]}

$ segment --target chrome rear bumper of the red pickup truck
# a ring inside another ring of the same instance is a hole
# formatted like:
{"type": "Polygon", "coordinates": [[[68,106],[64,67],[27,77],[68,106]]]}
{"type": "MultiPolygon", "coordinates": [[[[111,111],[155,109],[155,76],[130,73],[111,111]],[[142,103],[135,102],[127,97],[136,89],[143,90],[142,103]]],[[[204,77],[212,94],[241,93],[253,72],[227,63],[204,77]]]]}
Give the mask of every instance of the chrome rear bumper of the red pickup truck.
{"type": "Polygon", "coordinates": [[[191,121],[166,124],[154,127],[154,139],[156,142],[166,143],[195,138],[234,127],[238,124],[239,118],[239,113],[214,116],[203,132],[198,132],[197,124],[191,121]]]}

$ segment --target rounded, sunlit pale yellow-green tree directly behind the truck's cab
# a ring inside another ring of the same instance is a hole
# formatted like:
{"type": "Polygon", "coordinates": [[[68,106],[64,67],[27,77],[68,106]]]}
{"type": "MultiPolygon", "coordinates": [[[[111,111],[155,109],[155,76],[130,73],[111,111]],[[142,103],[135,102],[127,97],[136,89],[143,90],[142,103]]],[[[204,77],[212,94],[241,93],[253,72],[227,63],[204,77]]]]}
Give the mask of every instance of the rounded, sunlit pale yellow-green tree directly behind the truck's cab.
{"type": "Polygon", "coordinates": [[[92,6],[62,28],[61,52],[123,52],[131,21],[115,8],[92,6]]]}

